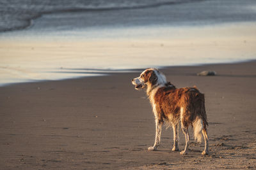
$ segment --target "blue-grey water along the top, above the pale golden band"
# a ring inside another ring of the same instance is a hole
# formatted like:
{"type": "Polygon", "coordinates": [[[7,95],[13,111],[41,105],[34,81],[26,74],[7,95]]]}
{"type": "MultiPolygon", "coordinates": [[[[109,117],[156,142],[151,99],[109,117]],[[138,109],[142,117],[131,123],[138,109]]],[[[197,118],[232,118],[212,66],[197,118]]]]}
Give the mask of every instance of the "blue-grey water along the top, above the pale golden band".
{"type": "Polygon", "coordinates": [[[256,20],[254,0],[0,0],[0,4],[1,32],[256,20]]]}

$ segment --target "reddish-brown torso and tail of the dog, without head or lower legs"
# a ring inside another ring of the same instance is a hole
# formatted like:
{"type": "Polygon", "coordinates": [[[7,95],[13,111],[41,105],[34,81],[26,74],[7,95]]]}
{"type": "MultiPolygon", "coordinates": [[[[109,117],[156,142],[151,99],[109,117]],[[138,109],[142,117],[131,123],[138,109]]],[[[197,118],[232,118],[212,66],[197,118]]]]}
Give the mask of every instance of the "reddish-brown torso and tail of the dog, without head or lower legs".
{"type": "Polygon", "coordinates": [[[174,86],[161,87],[154,95],[154,103],[159,122],[171,122],[188,129],[194,128],[194,136],[201,141],[201,131],[207,131],[207,116],[205,113],[204,94],[196,87],[184,87],[176,89],[174,86]],[[200,126],[202,121],[202,127],[200,126]]]}

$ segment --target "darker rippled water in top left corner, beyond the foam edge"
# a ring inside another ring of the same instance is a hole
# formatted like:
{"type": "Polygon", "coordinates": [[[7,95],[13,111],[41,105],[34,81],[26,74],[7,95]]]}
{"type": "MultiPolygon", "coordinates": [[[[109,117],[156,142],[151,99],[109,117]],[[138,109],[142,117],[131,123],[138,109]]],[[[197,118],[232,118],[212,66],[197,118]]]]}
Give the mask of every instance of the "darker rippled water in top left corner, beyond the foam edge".
{"type": "MultiPolygon", "coordinates": [[[[104,11],[117,11],[154,8],[157,6],[187,3],[188,0],[1,0],[0,1],[0,31],[12,31],[29,27],[31,20],[51,13],[77,13],[84,12],[89,15],[104,11]]],[[[121,12],[122,13],[122,12],[121,12]]],[[[100,15],[100,14],[99,14],[100,15]]],[[[67,15],[66,15],[67,17],[67,15]]],[[[92,16],[93,17],[93,16],[92,16]]],[[[61,17],[63,18],[63,17],[61,17]]],[[[68,18],[67,18],[68,19],[68,18]]],[[[90,18],[84,24],[97,25],[90,18]]],[[[102,19],[100,19],[102,21],[102,19]]],[[[61,21],[60,21],[61,22],[61,21]]],[[[76,22],[76,21],[75,21],[76,22]]],[[[74,23],[73,23],[74,24],[74,23]]],[[[75,23],[77,26],[79,23],[75,23]]],[[[80,23],[81,24],[81,23],[80,23]]],[[[102,24],[102,23],[100,23],[102,24]]],[[[60,23],[62,25],[62,23],[60,23]]]]}

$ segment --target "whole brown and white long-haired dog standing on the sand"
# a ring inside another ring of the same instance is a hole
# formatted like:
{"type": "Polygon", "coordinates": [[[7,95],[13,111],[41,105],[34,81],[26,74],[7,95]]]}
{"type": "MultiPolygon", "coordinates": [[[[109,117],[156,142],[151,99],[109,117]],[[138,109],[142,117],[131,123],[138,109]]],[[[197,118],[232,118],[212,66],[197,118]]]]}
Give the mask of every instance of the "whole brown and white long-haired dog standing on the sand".
{"type": "Polygon", "coordinates": [[[154,146],[148,150],[156,150],[160,144],[161,127],[164,123],[173,127],[173,151],[179,150],[179,122],[184,132],[186,145],[180,154],[188,153],[188,127],[193,127],[195,139],[202,141],[204,136],[205,148],[202,155],[207,155],[208,134],[207,116],[205,113],[204,94],[196,87],[184,87],[177,89],[172,83],[166,81],[163,73],[150,68],[143,71],[138,78],[132,79],[135,89],[147,88],[147,96],[152,104],[156,118],[156,140],[154,146]]]}

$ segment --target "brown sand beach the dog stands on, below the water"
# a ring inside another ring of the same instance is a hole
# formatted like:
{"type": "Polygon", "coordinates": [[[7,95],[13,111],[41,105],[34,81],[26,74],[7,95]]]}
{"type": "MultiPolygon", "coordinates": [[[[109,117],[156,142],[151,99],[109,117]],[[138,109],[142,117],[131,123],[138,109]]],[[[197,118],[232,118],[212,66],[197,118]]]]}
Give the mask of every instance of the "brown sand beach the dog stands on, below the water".
{"type": "Polygon", "coordinates": [[[139,73],[116,73],[0,87],[0,169],[256,169],[256,62],[161,71],[204,92],[209,155],[192,136],[188,155],[171,152],[170,129],[149,152],[154,116],[131,84],[139,73]],[[196,76],[204,70],[218,76],[196,76]]]}

